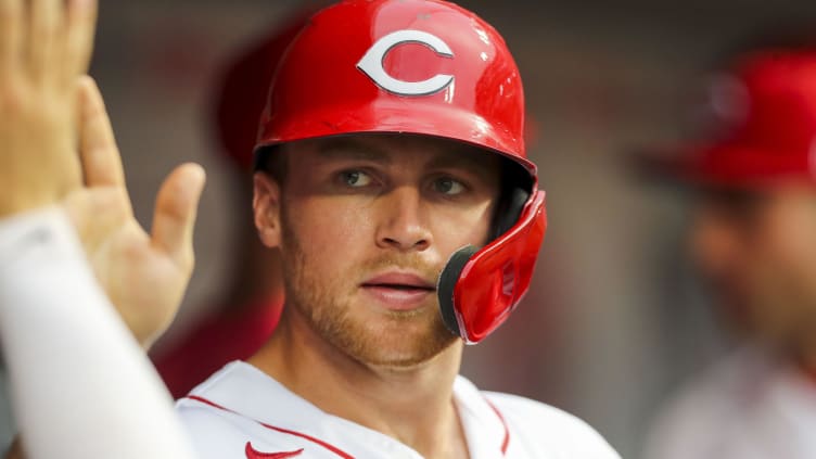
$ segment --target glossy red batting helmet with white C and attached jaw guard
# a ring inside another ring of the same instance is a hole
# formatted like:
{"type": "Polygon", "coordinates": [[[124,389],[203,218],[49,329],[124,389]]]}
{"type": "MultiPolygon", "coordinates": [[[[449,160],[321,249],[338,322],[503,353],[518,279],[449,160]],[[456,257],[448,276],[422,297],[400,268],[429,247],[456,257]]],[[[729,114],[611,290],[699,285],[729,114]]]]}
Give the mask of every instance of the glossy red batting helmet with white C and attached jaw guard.
{"type": "Polygon", "coordinates": [[[509,160],[521,179],[496,238],[454,254],[438,283],[446,326],[475,343],[526,293],[547,226],[523,125],[518,67],[483,20],[439,0],[347,0],[313,16],[283,56],[256,164],[282,142],[362,132],[451,139],[509,160]]]}

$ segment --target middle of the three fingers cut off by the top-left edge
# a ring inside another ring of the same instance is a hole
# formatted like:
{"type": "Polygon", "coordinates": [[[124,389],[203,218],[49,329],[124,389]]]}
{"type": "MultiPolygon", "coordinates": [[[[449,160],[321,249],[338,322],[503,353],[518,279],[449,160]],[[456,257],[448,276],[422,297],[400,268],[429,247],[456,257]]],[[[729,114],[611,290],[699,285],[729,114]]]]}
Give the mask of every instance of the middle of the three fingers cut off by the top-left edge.
{"type": "Polygon", "coordinates": [[[30,0],[28,67],[36,81],[53,77],[54,48],[60,40],[62,0],[30,0]]]}

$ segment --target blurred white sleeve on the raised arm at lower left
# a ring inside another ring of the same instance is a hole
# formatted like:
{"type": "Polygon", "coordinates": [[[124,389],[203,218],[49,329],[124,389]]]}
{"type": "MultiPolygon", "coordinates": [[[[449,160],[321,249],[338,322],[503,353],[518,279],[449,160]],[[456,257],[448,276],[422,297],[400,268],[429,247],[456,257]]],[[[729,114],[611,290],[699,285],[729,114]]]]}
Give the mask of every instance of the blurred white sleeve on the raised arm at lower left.
{"type": "Polygon", "coordinates": [[[0,344],[30,459],[193,458],[58,208],[0,220],[0,344]]]}

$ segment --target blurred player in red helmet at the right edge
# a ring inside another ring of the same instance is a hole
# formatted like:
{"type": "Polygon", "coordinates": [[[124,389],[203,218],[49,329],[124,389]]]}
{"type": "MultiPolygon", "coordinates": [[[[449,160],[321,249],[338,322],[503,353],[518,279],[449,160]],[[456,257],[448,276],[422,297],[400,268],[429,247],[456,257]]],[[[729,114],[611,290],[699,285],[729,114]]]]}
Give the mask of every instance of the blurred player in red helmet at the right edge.
{"type": "Polygon", "coordinates": [[[719,137],[670,167],[699,190],[701,272],[743,343],[663,412],[650,459],[816,457],[816,48],[740,55],[713,88],[719,137]]]}

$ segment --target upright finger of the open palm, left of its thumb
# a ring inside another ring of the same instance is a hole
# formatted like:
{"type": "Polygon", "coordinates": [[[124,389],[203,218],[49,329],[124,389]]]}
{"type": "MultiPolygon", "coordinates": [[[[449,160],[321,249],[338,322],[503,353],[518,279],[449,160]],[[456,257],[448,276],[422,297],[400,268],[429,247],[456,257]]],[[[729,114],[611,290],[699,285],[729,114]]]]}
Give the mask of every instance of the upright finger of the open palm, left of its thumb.
{"type": "Polygon", "coordinates": [[[79,155],[88,187],[124,187],[125,171],[111,118],[93,78],[79,78],[79,155]]]}

